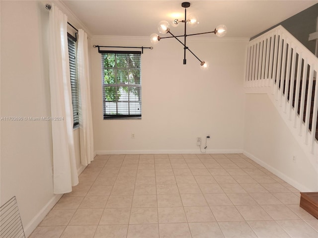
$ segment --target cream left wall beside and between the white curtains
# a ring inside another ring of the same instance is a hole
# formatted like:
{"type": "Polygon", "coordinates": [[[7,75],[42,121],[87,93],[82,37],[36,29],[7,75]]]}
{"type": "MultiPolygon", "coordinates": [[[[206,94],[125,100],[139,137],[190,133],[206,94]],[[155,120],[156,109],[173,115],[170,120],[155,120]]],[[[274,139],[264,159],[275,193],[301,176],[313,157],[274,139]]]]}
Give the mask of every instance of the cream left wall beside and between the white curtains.
{"type": "MultiPolygon", "coordinates": [[[[1,0],[1,117],[49,117],[47,27],[40,1],[1,0]]],[[[1,120],[0,204],[16,196],[28,236],[60,195],[53,194],[50,121],[1,120]]],[[[80,169],[79,133],[75,131],[80,169]]]]}

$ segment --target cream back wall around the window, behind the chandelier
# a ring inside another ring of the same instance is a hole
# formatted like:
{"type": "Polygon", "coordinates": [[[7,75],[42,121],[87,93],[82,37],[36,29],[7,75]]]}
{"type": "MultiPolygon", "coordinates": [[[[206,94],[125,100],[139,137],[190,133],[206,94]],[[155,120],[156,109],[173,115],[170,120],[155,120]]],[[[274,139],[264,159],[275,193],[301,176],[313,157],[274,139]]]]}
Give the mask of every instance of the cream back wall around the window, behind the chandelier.
{"type": "MultiPolygon", "coordinates": [[[[209,70],[200,70],[200,62],[189,52],[183,65],[183,46],[174,39],[162,39],[154,50],[144,50],[141,120],[103,120],[101,58],[97,48],[91,50],[97,154],[200,153],[196,137],[205,143],[208,134],[207,152],[241,152],[246,41],[211,35],[187,42],[201,60],[209,61],[209,70]]],[[[96,36],[91,44],[152,46],[148,37],[96,36]]]]}

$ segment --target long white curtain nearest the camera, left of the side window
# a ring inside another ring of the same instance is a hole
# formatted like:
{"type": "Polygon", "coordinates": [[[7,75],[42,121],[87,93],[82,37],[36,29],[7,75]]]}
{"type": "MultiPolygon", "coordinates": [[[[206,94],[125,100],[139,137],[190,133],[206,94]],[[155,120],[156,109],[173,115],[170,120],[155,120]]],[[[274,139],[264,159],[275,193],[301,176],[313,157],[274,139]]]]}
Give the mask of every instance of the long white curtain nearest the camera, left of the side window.
{"type": "Polygon", "coordinates": [[[49,16],[49,68],[54,193],[72,191],[79,182],[74,149],[73,108],[67,40],[67,16],[54,4],[49,16]],[[60,117],[62,120],[55,120],[60,117]]]}

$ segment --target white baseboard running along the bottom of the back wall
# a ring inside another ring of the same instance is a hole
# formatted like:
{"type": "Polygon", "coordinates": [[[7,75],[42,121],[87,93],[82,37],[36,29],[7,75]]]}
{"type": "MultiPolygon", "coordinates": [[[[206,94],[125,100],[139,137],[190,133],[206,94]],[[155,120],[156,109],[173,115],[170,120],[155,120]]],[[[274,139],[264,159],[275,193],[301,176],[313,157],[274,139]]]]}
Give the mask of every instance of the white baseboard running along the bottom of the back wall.
{"type": "MultiPolygon", "coordinates": [[[[203,151],[203,150],[202,150],[203,151]]],[[[219,149],[219,150],[206,150],[201,153],[198,150],[97,150],[94,152],[96,155],[145,155],[145,154],[241,154],[243,150],[236,149],[219,149]]]]}

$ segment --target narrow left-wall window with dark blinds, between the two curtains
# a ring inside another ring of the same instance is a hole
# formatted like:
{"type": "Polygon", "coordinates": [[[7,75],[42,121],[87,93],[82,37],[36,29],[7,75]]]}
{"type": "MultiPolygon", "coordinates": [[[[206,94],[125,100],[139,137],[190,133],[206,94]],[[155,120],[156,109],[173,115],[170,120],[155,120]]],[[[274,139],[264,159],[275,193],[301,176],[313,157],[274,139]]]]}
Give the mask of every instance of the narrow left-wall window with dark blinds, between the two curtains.
{"type": "Polygon", "coordinates": [[[68,47],[70,58],[70,74],[71,74],[71,90],[72,90],[72,106],[73,106],[73,127],[79,124],[79,90],[77,79],[76,65],[76,39],[68,34],[68,47]]]}

